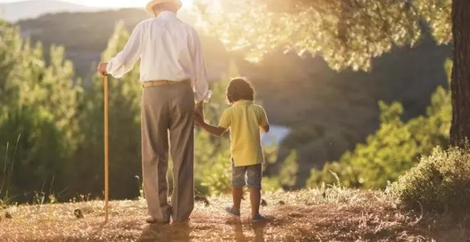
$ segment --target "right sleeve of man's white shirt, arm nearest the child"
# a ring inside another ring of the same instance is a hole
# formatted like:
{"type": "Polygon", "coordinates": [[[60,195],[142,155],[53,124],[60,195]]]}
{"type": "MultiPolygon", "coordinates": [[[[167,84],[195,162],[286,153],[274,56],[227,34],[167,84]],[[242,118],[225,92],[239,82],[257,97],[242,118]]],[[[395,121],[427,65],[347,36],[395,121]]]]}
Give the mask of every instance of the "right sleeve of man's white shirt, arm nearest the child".
{"type": "Polygon", "coordinates": [[[192,39],[194,42],[192,46],[192,81],[194,84],[194,101],[208,101],[211,98],[212,92],[209,90],[207,70],[202,55],[202,43],[194,29],[192,31],[192,39]]]}

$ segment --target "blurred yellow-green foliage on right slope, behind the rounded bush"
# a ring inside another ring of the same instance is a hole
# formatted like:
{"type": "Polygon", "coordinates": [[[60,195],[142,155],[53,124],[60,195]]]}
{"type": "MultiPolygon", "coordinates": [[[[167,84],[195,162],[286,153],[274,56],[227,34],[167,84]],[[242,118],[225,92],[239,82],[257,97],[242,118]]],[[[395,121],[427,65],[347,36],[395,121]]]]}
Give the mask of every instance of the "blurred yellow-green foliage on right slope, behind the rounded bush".
{"type": "MultiPolygon", "coordinates": [[[[451,63],[446,63],[446,69],[450,73],[451,63]]],[[[313,169],[308,187],[322,182],[333,183],[330,175],[333,171],[346,186],[383,188],[388,181],[395,181],[413,167],[419,156],[429,154],[437,145],[447,144],[451,97],[444,88],[437,88],[432,96],[427,116],[415,117],[408,122],[400,118],[401,104],[380,102],[379,105],[382,110],[379,130],[367,137],[366,144],[357,144],[352,152],[345,152],[338,162],[328,162],[322,171],[313,169]]]]}

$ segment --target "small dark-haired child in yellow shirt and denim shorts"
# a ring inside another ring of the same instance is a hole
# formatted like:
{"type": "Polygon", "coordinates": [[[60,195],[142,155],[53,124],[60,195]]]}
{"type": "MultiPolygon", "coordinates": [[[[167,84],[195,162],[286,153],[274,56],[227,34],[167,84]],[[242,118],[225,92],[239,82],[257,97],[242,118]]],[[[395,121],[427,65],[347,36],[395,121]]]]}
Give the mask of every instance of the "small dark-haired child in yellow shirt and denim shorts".
{"type": "Polygon", "coordinates": [[[269,132],[268,118],[263,107],[254,105],[254,88],[245,78],[230,81],[226,98],[231,107],[222,113],[218,127],[207,124],[199,116],[196,117],[196,124],[216,136],[230,129],[231,191],[234,204],[226,207],[226,211],[233,216],[240,216],[242,189],[247,185],[250,189],[251,219],[261,221],[264,219],[259,214],[264,157],[259,130],[261,128],[269,132]]]}

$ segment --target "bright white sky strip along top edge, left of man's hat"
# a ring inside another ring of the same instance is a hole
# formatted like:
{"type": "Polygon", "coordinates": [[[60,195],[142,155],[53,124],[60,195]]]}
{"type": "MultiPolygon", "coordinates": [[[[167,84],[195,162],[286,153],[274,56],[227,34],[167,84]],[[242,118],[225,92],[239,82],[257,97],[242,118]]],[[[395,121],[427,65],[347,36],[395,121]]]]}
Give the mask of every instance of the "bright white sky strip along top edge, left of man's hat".
{"type": "MultiPolygon", "coordinates": [[[[0,3],[23,1],[23,0],[0,0],[0,3]]],[[[59,0],[67,1],[72,4],[97,6],[97,7],[111,7],[111,8],[124,8],[124,7],[144,7],[149,0],[59,0]]],[[[183,4],[187,6],[192,0],[182,0],[183,4]]]]}

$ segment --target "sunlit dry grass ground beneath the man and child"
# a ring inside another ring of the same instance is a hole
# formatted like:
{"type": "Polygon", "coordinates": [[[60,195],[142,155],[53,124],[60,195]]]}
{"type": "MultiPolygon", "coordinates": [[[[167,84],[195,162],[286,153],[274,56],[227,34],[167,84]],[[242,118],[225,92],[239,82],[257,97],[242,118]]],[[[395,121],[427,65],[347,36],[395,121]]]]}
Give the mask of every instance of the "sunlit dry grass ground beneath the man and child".
{"type": "Polygon", "coordinates": [[[264,194],[264,223],[227,216],[228,196],[197,203],[189,224],[148,225],[145,201],[113,201],[103,223],[102,201],[11,206],[1,211],[1,241],[468,241],[470,226],[444,216],[404,211],[380,191],[348,189],[264,194]],[[83,211],[83,219],[73,215],[83,211]],[[6,219],[5,213],[12,219],[6,219]]]}

